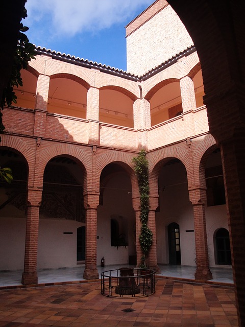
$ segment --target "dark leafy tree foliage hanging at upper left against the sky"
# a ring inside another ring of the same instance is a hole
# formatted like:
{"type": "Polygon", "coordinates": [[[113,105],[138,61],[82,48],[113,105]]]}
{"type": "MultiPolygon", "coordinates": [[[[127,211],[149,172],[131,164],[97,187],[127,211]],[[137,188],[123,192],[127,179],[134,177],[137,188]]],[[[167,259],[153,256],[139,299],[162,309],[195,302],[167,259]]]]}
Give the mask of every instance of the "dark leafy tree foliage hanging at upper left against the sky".
{"type": "MultiPolygon", "coordinates": [[[[26,8],[23,9],[22,18],[27,17],[26,8]]],[[[16,51],[13,58],[13,66],[10,75],[10,79],[7,83],[6,88],[3,91],[3,97],[0,104],[0,110],[3,110],[4,107],[11,106],[12,103],[17,103],[17,97],[14,92],[14,86],[22,86],[22,78],[20,76],[21,69],[27,69],[29,65],[29,61],[31,59],[35,59],[35,45],[29,42],[29,39],[24,32],[27,32],[29,28],[27,26],[23,26],[22,22],[19,24],[19,38],[16,44],[16,51]]],[[[0,111],[0,133],[3,133],[5,130],[5,126],[3,125],[3,113],[0,111]]],[[[1,142],[1,137],[0,137],[1,142]]]]}

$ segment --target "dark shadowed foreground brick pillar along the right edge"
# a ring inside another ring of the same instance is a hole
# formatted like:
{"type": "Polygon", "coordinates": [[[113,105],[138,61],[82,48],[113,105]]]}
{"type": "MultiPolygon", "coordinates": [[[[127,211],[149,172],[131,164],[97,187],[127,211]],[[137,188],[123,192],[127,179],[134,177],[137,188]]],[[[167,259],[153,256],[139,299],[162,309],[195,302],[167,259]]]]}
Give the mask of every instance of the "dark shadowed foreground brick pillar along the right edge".
{"type": "Polygon", "coordinates": [[[239,326],[245,325],[245,86],[230,81],[205,97],[210,132],[221,150],[239,326]]]}

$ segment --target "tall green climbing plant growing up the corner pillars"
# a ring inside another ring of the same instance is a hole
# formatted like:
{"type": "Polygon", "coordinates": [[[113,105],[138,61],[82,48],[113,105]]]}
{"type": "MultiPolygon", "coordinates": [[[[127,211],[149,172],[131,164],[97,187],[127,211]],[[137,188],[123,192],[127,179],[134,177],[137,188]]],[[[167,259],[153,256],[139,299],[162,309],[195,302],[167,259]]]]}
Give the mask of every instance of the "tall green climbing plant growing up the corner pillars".
{"type": "Polygon", "coordinates": [[[153,233],[148,227],[148,215],[149,215],[149,168],[148,160],[146,159],[146,153],[142,149],[137,157],[132,159],[134,163],[134,172],[138,179],[139,194],[140,194],[140,222],[141,229],[139,235],[139,244],[143,256],[141,258],[141,268],[146,267],[147,254],[152,245],[153,233]]]}

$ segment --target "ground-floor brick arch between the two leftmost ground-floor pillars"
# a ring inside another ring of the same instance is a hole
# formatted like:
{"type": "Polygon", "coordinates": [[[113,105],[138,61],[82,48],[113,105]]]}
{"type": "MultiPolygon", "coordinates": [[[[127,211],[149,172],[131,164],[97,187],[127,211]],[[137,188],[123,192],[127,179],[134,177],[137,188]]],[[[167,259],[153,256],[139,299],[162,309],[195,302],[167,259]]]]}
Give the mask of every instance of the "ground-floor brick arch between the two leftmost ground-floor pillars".
{"type": "Polygon", "coordinates": [[[84,191],[86,191],[89,186],[92,187],[91,156],[78,147],[68,144],[59,144],[52,148],[45,149],[40,153],[39,181],[41,184],[43,183],[44,169],[48,161],[57,156],[69,156],[77,162],[84,172],[84,191]]]}

